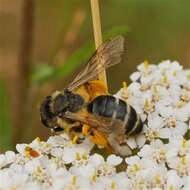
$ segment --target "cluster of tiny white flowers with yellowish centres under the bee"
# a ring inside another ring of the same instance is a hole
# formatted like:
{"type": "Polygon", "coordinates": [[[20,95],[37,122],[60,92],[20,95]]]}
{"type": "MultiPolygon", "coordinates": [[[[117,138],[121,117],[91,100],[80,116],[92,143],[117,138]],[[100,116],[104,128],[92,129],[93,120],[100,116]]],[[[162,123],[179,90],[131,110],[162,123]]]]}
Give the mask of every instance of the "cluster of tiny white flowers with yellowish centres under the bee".
{"type": "Polygon", "coordinates": [[[190,72],[178,62],[144,62],[117,94],[141,116],[126,158],[95,153],[67,135],[18,144],[0,155],[0,190],[189,190],[190,72]]]}

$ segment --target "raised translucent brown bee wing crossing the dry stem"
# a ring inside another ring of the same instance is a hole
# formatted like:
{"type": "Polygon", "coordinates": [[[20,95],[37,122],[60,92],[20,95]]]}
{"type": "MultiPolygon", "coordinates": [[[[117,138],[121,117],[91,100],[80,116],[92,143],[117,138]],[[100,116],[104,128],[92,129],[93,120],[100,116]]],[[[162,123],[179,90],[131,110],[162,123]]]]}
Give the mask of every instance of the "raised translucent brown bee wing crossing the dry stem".
{"type": "Polygon", "coordinates": [[[123,53],[124,38],[122,36],[117,36],[100,45],[89,59],[85,69],[68,86],[68,90],[73,90],[85,82],[95,79],[104,69],[118,64],[123,53]]]}

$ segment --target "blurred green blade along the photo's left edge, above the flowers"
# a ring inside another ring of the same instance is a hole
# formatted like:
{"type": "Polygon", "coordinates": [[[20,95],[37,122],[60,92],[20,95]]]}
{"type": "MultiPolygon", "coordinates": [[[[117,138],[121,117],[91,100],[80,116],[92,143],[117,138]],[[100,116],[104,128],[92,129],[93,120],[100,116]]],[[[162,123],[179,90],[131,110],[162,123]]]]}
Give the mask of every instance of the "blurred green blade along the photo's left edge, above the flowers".
{"type": "Polygon", "coordinates": [[[12,147],[11,132],[6,86],[4,81],[0,80],[0,150],[5,151],[12,147]]]}

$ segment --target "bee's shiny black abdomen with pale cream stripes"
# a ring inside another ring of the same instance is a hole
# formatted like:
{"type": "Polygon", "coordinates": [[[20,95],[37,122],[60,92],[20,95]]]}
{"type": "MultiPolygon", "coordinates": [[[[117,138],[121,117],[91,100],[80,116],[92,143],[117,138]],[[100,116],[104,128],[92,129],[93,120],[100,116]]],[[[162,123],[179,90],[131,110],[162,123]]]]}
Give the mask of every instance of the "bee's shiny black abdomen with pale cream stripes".
{"type": "Polygon", "coordinates": [[[138,134],[142,131],[142,122],[134,108],[125,101],[110,95],[96,97],[89,105],[88,111],[98,116],[119,119],[123,122],[127,135],[138,134]]]}

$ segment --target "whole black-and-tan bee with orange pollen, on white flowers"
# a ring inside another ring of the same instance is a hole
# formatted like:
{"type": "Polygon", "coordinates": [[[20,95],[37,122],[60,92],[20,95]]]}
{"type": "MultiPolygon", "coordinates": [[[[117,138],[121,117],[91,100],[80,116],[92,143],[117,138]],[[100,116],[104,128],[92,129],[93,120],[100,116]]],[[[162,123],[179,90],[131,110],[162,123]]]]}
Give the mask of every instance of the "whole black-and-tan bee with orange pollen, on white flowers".
{"type": "Polygon", "coordinates": [[[44,99],[42,123],[54,132],[66,132],[73,142],[88,137],[114,153],[128,154],[126,139],[142,131],[142,121],[132,106],[110,95],[97,79],[104,68],[120,63],[124,53],[122,36],[100,45],[67,88],[44,99]]]}

